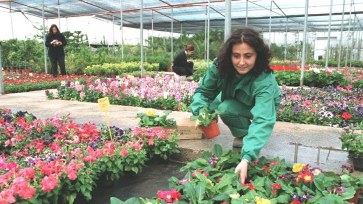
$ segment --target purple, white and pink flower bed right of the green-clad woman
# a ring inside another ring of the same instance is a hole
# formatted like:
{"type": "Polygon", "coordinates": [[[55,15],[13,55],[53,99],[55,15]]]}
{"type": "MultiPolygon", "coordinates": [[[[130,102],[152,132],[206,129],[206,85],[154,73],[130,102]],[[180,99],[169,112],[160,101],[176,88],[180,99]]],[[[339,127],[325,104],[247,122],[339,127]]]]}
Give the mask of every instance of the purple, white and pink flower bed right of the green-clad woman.
{"type": "Polygon", "coordinates": [[[363,120],[362,89],[282,88],[277,120],[345,127],[363,120]]]}

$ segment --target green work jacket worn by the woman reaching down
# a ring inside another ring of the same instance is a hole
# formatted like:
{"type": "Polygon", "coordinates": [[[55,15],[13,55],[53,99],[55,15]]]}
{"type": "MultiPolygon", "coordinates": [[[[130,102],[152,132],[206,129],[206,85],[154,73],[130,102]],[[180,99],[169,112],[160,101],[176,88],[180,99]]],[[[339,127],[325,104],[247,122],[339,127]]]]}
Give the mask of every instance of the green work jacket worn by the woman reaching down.
{"type": "Polygon", "coordinates": [[[204,105],[208,107],[220,92],[222,102],[225,99],[235,99],[246,107],[251,107],[250,110],[238,110],[236,107],[236,114],[249,111],[249,119],[252,119],[248,134],[243,138],[241,151],[242,158],[251,162],[260,155],[276,123],[281,92],[275,76],[272,72],[254,76],[250,71],[244,75],[236,74],[232,79],[223,79],[218,75],[216,64],[212,63],[193,95],[193,114],[199,114],[204,105]]]}

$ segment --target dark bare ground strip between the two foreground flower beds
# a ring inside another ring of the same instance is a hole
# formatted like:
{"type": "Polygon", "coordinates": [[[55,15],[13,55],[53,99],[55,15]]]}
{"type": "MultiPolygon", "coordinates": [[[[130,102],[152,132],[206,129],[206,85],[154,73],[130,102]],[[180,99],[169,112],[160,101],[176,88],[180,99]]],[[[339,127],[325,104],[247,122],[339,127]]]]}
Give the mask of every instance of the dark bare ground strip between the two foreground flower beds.
{"type": "Polygon", "coordinates": [[[131,197],[152,198],[158,190],[168,190],[168,179],[172,176],[182,179],[186,172],[179,172],[183,164],[176,162],[149,162],[138,174],[129,174],[111,186],[100,184],[92,191],[92,200],[85,201],[78,197],[74,204],[110,204],[110,197],[123,201],[131,197]]]}

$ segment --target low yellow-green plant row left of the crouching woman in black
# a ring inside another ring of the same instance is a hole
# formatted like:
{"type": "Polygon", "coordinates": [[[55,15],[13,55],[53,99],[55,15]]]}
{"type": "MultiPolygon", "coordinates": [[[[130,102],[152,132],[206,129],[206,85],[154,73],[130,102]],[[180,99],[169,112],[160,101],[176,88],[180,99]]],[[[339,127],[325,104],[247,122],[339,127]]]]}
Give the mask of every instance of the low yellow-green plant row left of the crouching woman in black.
{"type": "MultiPolygon", "coordinates": [[[[144,64],[146,71],[158,71],[158,63],[144,64]]],[[[125,72],[133,72],[141,70],[141,62],[121,62],[121,63],[104,63],[100,65],[87,66],[84,70],[87,75],[120,75],[125,72]]]]}

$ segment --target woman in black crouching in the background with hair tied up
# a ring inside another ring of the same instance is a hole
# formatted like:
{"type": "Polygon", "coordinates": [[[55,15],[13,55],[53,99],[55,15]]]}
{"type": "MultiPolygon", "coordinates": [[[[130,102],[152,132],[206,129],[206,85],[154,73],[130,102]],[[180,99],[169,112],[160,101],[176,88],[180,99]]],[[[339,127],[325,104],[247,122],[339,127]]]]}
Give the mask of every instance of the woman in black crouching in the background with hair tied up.
{"type": "Polygon", "coordinates": [[[172,68],[173,71],[179,76],[192,76],[193,75],[193,62],[187,61],[187,56],[192,55],[194,53],[193,45],[184,45],[185,50],[181,51],[181,53],[176,56],[174,59],[172,68]]]}

